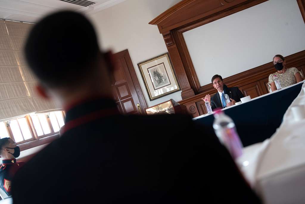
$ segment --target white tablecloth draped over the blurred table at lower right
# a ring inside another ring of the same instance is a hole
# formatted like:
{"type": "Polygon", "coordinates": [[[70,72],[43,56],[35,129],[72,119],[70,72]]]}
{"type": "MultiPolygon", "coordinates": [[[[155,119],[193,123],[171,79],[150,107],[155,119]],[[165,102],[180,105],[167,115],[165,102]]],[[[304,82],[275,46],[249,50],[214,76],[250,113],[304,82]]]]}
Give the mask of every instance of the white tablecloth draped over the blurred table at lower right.
{"type": "Polygon", "coordinates": [[[305,119],[295,121],[291,112],[291,106],[305,105],[303,88],[305,83],[274,135],[244,148],[236,161],[267,204],[305,203],[305,119]]]}

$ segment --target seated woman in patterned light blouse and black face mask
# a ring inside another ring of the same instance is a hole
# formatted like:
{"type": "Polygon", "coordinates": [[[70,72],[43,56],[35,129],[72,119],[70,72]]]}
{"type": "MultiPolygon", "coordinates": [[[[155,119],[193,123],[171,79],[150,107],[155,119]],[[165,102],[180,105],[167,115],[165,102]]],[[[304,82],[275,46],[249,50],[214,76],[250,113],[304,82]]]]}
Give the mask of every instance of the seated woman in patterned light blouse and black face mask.
{"type": "Polygon", "coordinates": [[[286,60],[282,55],[275,55],[273,64],[278,71],[269,75],[268,85],[271,86],[272,91],[277,90],[274,82],[275,76],[280,80],[282,88],[303,80],[300,71],[296,67],[286,68],[286,60]]]}

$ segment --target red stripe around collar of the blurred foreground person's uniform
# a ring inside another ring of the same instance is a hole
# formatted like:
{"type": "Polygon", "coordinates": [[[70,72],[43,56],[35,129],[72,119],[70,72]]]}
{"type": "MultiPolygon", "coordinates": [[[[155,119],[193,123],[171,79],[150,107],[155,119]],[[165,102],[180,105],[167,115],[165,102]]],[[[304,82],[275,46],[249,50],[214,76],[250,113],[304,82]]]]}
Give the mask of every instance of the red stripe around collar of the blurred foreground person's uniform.
{"type": "Polygon", "coordinates": [[[102,117],[105,117],[105,116],[110,116],[110,115],[119,115],[119,114],[120,113],[119,113],[119,111],[117,110],[116,107],[92,112],[90,114],[84,115],[80,118],[76,118],[74,120],[71,120],[71,121],[67,122],[64,126],[63,134],[70,129],[73,129],[77,126],[88,123],[90,121],[93,121],[95,119],[102,118],[102,117]]]}

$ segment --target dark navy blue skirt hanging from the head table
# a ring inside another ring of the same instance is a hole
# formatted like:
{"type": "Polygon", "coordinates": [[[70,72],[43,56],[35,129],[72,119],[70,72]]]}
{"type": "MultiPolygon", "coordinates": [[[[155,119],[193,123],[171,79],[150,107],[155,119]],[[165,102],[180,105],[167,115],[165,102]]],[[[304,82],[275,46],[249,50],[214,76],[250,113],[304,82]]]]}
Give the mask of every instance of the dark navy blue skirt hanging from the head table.
{"type": "MultiPolygon", "coordinates": [[[[303,83],[224,110],[224,113],[235,122],[244,147],[262,142],[275,133],[287,108],[300,93],[302,85],[303,83]]],[[[194,122],[206,127],[207,132],[203,133],[204,136],[215,135],[213,121],[214,116],[208,115],[194,122]]]]}

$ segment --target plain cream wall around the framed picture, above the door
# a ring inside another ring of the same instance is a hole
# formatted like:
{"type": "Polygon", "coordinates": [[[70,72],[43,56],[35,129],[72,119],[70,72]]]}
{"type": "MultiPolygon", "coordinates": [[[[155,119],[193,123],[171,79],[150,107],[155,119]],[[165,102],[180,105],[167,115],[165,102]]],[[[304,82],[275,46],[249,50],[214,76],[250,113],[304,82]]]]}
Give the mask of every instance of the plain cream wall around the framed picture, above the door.
{"type": "Polygon", "coordinates": [[[181,100],[181,91],[149,101],[138,63],[167,52],[158,27],[148,23],[180,0],[127,0],[89,16],[103,49],[114,53],[128,49],[149,106],[169,100],[181,100]]]}

